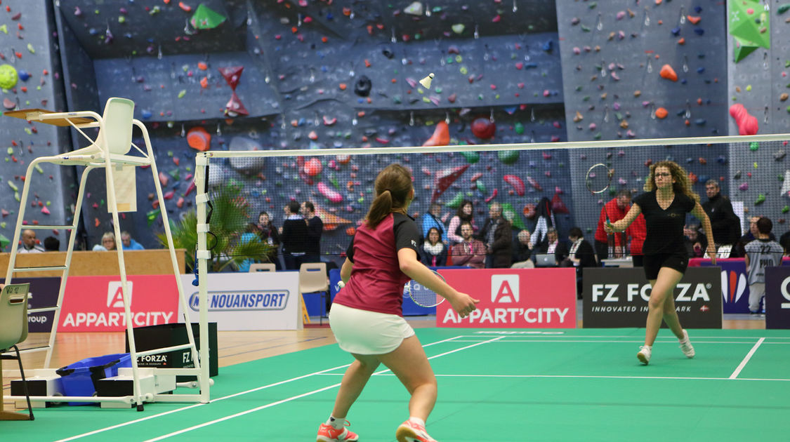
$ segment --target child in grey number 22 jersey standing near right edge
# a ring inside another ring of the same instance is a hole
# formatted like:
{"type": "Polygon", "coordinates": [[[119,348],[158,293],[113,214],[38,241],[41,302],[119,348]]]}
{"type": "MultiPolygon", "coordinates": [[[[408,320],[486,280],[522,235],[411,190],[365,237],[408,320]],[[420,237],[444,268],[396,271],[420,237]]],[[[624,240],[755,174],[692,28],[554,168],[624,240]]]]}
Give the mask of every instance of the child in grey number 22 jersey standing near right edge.
{"type": "Polygon", "coordinates": [[[760,313],[760,302],[766,296],[766,267],[782,263],[782,246],[770,238],[773,223],[762,216],[757,222],[757,239],[746,245],[747,274],[749,275],[749,311],[760,313]]]}

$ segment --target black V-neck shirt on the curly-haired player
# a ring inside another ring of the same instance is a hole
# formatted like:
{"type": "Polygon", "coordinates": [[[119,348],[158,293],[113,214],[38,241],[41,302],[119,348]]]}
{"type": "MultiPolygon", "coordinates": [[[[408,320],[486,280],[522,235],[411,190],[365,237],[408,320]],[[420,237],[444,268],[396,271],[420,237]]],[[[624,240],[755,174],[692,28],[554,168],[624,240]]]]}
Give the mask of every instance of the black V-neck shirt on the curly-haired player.
{"type": "Polygon", "coordinates": [[[672,204],[664,210],[658,205],[654,190],[638,195],[634,198],[634,204],[641,208],[647,223],[647,238],[642,248],[645,255],[679,253],[686,256],[683,226],[686,224],[686,213],[694,210],[697,202],[684,193],[675,193],[672,204]]]}

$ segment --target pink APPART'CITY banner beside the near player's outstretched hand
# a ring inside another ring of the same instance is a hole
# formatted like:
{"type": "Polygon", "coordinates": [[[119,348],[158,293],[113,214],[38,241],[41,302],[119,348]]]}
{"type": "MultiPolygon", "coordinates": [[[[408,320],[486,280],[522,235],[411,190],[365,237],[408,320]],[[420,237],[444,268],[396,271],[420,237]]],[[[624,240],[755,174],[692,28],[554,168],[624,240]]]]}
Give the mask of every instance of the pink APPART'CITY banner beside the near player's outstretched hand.
{"type": "Polygon", "coordinates": [[[574,268],[442,270],[447,283],[480,299],[461,318],[450,302],[436,307],[437,327],[576,328],[574,268]]]}

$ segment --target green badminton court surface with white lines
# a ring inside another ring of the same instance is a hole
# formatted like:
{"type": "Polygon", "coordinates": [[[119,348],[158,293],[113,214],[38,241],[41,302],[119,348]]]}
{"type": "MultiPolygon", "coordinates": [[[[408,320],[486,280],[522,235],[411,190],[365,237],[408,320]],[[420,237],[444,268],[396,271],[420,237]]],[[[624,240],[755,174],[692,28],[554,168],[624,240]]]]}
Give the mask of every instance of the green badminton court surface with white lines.
{"type": "MultiPolygon", "coordinates": [[[[438,376],[427,429],[440,441],[790,440],[790,331],[692,330],[687,359],[661,330],[417,329],[438,376]]],[[[312,441],[351,357],[337,345],[220,369],[209,404],[145,411],[56,406],[0,422],[0,440],[312,441]]],[[[393,441],[408,395],[384,367],[348,420],[393,441]]]]}

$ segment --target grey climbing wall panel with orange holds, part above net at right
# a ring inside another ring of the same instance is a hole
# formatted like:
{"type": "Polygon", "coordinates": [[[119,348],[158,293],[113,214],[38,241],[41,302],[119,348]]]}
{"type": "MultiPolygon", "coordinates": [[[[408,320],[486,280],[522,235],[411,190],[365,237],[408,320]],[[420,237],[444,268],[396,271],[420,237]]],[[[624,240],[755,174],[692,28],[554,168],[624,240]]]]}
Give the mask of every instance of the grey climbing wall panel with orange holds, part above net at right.
{"type": "Polygon", "coordinates": [[[557,17],[569,140],[727,133],[720,2],[557,2],[557,17]]]}

